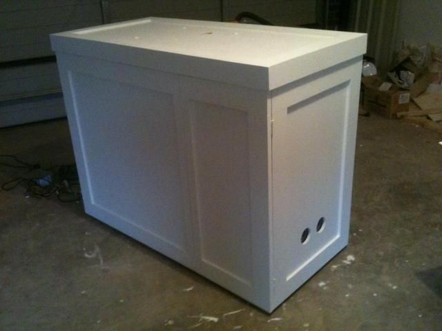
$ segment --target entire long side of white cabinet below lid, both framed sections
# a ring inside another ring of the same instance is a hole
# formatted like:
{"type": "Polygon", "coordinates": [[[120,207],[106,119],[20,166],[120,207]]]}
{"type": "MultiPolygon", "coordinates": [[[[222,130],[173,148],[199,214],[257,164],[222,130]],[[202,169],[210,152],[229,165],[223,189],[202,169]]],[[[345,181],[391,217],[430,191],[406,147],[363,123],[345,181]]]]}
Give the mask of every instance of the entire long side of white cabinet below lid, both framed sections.
{"type": "Polygon", "coordinates": [[[86,212],[269,309],[269,94],[64,54],[86,212]]]}

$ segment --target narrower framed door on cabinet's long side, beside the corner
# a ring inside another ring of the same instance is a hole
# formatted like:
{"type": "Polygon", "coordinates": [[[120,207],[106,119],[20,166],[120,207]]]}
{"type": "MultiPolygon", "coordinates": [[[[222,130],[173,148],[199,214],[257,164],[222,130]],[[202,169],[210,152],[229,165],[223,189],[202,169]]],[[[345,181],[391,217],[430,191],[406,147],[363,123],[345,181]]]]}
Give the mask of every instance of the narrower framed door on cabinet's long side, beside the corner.
{"type": "Polygon", "coordinates": [[[198,269],[267,309],[267,92],[181,79],[198,269]]]}

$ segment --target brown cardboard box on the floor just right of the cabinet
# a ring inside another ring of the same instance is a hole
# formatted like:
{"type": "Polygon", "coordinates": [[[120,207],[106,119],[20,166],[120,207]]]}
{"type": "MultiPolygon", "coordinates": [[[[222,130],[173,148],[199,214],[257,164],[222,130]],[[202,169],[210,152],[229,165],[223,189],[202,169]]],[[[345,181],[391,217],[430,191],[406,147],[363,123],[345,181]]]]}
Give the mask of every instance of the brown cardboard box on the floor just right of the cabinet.
{"type": "Polygon", "coordinates": [[[410,91],[400,90],[393,83],[379,77],[363,77],[364,110],[377,112],[389,119],[396,113],[407,112],[410,108],[410,91]]]}

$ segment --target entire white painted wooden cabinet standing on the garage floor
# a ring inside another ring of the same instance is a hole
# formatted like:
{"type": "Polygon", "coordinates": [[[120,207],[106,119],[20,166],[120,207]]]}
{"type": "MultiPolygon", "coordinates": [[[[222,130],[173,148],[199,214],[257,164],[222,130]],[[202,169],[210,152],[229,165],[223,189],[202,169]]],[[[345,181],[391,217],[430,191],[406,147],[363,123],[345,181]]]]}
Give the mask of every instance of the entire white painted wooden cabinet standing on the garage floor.
{"type": "Polygon", "coordinates": [[[88,214],[267,312],[347,245],[365,34],[149,18],[51,41],[88,214]]]}

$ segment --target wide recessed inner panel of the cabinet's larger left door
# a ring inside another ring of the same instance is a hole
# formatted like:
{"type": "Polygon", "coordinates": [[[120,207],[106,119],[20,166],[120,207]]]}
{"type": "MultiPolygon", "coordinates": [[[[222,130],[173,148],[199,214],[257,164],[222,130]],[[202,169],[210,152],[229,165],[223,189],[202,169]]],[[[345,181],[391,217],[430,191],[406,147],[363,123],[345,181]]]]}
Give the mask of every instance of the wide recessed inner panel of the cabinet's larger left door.
{"type": "Polygon", "coordinates": [[[122,228],[131,223],[181,250],[187,206],[173,94],[84,74],[71,80],[90,202],[122,228]]]}

